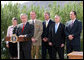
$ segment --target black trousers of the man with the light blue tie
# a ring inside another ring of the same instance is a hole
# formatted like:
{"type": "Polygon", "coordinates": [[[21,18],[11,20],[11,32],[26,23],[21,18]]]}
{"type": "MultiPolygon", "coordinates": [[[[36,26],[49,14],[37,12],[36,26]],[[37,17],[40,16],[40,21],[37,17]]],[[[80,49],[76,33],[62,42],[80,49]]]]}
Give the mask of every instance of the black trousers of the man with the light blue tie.
{"type": "Polygon", "coordinates": [[[64,59],[64,47],[53,47],[52,48],[52,55],[53,55],[53,59],[57,59],[56,55],[59,55],[60,59],[64,59]]]}

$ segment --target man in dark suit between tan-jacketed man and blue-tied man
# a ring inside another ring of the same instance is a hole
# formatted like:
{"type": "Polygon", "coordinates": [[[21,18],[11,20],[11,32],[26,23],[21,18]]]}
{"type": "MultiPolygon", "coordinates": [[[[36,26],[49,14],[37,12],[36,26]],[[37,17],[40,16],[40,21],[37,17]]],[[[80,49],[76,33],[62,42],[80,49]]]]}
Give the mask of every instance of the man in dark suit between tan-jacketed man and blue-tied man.
{"type": "Polygon", "coordinates": [[[42,33],[42,59],[46,59],[47,49],[49,53],[49,57],[52,58],[52,47],[48,45],[48,35],[49,35],[49,27],[54,21],[50,19],[50,13],[44,13],[45,21],[43,22],[43,33],[42,33]]]}

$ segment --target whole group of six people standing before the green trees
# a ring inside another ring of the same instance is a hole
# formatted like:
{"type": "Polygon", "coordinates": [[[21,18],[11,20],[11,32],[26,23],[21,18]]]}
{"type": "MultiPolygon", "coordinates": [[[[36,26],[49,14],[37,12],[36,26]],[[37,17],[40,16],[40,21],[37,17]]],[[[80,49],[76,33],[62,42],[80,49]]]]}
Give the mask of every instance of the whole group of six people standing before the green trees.
{"type": "MultiPolygon", "coordinates": [[[[76,12],[70,12],[70,21],[64,25],[61,17],[55,15],[54,21],[50,18],[50,13],[44,13],[44,21],[36,19],[36,12],[30,12],[31,20],[26,14],[21,14],[22,23],[17,24],[17,19],[12,19],[12,26],[8,27],[7,36],[16,34],[18,37],[31,38],[28,41],[20,42],[20,59],[46,59],[47,51],[50,59],[64,59],[64,46],[67,54],[72,51],[80,51],[80,33],[82,23],[76,18],[76,12]],[[66,41],[66,44],[65,44],[66,41]],[[40,48],[41,47],[41,48],[40,48]],[[41,50],[41,52],[40,52],[41,50]]],[[[17,43],[6,41],[11,59],[17,59],[17,43]]]]}

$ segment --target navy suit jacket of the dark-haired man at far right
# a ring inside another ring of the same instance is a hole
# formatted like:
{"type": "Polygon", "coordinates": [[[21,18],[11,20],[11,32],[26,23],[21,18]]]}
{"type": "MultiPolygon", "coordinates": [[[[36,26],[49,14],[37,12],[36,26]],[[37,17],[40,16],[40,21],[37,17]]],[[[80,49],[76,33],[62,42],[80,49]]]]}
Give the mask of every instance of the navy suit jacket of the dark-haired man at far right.
{"type": "Polygon", "coordinates": [[[70,28],[70,23],[71,23],[71,21],[68,21],[66,23],[66,27],[65,27],[65,34],[67,37],[67,45],[69,45],[71,42],[71,45],[73,45],[74,47],[80,46],[80,33],[82,30],[82,23],[76,19],[74,21],[72,28],[70,28]],[[68,39],[68,35],[70,35],[70,34],[73,34],[73,37],[74,37],[73,40],[68,39]]]}

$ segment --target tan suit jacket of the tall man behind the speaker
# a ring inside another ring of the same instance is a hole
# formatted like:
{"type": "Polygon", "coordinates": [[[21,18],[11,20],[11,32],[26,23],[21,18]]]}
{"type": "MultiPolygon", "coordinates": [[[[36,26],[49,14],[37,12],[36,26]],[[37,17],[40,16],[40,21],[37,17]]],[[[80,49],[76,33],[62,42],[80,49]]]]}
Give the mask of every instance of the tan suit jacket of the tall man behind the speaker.
{"type": "MultiPolygon", "coordinates": [[[[29,20],[29,23],[32,24],[32,20],[29,20]]],[[[43,32],[43,25],[42,25],[42,22],[40,20],[35,20],[35,23],[34,23],[34,35],[33,37],[35,38],[36,42],[33,43],[33,45],[36,45],[36,46],[41,46],[41,35],[42,35],[42,32],[43,32]]]]}

